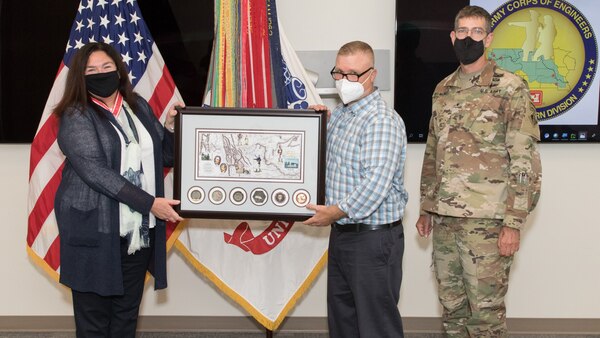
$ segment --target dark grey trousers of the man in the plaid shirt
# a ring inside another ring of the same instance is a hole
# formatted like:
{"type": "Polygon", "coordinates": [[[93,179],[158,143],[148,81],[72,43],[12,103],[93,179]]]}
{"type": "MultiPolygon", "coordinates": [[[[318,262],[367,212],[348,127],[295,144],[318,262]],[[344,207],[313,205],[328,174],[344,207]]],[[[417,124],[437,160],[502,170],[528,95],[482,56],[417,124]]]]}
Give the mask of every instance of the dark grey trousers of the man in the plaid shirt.
{"type": "Polygon", "coordinates": [[[404,337],[398,310],[402,226],[363,232],[331,229],[327,317],[332,338],[404,337]]]}

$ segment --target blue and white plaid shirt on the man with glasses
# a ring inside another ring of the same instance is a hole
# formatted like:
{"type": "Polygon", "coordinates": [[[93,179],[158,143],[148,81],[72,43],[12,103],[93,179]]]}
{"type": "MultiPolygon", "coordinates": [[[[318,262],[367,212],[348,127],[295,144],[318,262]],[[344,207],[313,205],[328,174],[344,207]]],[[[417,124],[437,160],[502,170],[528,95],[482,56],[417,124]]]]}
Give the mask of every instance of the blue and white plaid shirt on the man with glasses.
{"type": "Polygon", "coordinates": [[[337,205],[345,223],[386,224],[402,219],[404,121],[379,90],[350,106],[339,105],[327,124],[327,205],[337,205]]]}

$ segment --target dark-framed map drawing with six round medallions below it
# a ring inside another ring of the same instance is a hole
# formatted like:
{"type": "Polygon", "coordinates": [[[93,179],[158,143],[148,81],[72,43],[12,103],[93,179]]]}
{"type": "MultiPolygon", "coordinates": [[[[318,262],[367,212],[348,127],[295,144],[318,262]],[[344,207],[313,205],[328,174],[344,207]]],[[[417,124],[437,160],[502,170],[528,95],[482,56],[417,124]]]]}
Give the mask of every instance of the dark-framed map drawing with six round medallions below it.
{"type": "Polygon", "coordinates": [[[178,108],[175,199],[185,218],[305,220],[325,202],[325,112],[178,108]]]}

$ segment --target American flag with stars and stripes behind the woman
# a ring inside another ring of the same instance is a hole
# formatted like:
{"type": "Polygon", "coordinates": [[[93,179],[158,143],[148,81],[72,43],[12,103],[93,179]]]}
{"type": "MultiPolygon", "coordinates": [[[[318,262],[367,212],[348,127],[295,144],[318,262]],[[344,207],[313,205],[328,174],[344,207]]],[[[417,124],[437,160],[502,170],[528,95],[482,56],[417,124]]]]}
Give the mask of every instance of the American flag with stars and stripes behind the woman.
{"type": "MultiPolygon", "coordinates": [[[[150,103],[161,121],[174,102],[183,102],[136,0],[81,0],[64,58],[31,144],[29,163],[27,251],[56,280],[60,273],[60,242],[54,195],[65,158],[56,142],[58,120],[52,113],[64,92],[71,58],[88,42],[105,42],[115,47],[129,69],[134,90],[150,103]]],[[[172,188],[171,175],[165,175],[165,194],[172,194],[172,188]]],[[[177,233],[177,224],[167,226],[168,248],[177,233]]]]}

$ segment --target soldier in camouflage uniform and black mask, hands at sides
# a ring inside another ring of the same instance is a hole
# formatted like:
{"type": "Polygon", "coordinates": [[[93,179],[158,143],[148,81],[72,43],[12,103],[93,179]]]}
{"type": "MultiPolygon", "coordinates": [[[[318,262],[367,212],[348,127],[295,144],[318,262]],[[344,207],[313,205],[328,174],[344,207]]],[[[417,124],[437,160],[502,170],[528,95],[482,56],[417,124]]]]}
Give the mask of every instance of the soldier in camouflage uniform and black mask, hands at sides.
{"type": "Polygon", "coordinates": [[[460,67],[436,87],[421,174],[421,236],[449,337],[505,337],[508,274],[539,199],[535,108],[526,82],[486,60],[489,13],[463,8],[450,37],[460,67]]]}

